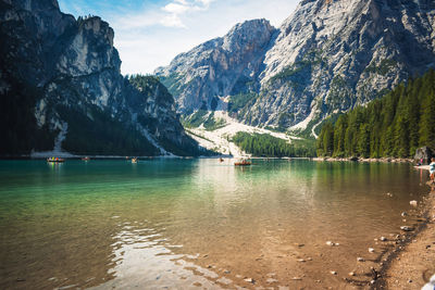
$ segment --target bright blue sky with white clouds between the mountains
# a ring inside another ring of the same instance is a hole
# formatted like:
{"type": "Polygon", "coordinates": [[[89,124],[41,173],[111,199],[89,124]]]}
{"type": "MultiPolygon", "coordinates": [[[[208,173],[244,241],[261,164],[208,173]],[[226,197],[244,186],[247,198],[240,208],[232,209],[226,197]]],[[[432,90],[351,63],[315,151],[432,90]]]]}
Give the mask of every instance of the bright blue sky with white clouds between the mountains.
{"type": "Polygon", "coordinates": [[[299,0],[59,0],[75,17],[98,15],[115,31],[122,74],[152,74],[181,52],[224,36],[235,24],[266,18],[275,27],[299,0]]]}

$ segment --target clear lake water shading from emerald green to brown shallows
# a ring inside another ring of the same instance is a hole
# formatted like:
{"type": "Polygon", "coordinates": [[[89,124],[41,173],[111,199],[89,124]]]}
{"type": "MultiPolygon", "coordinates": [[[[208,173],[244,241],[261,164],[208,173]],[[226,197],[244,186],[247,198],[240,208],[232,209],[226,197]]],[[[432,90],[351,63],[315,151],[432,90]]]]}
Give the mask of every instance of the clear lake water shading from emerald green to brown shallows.
{"type": "Polygon", "coordinates": [[[409,164],[233,162],[0,161],[0,288],[347,288],[428,191],[409,164]]]}

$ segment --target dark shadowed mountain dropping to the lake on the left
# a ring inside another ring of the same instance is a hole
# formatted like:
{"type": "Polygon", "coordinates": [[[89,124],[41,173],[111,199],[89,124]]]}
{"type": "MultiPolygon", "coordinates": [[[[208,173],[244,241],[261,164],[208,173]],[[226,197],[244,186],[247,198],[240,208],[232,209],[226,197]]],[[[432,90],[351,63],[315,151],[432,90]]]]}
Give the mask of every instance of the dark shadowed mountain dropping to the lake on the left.
{"type": "Polygon", "coordinates": [[[158,79],[121,75],[113,37],[57,0],[0,1],[1,155],[200,153],[158,79]]]}

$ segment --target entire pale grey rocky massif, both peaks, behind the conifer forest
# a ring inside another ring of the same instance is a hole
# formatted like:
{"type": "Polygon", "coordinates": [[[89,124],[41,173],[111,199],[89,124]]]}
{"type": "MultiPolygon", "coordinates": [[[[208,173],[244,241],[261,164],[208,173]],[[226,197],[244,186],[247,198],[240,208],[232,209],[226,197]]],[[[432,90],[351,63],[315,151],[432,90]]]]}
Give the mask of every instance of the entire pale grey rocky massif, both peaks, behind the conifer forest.
{"type": "Polygon", "coordinates": [[[302,0],[278,29],[238,24],[156,74],[184,114],[217,108],[245,124],[315,136],[326,116],[434,66],[434,1],[302,0]]]}

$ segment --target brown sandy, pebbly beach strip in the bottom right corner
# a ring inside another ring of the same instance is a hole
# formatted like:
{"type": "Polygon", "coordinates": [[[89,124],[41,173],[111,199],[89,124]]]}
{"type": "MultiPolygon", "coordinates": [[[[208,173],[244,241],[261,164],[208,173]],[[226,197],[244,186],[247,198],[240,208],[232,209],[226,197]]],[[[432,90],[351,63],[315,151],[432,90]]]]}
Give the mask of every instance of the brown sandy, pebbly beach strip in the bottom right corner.
{"type": "Polygon", "coordinates": [[[372,280],[371,289],[421,289],[435,274],[435,185],[419,209],[414,230],[396,238],[372,280]]]}

